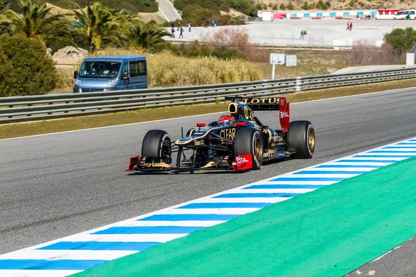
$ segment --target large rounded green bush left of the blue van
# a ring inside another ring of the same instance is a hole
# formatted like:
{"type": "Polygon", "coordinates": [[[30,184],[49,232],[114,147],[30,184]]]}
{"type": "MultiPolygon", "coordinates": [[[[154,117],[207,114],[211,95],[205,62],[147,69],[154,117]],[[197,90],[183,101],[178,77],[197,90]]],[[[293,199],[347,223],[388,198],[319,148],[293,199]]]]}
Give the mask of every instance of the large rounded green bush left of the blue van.
{"type": "Polygon", "coordinates": [[[0,37],[0,96],[45,94],[55,88],[56,73],[46,48],[26,37],[0,37]]]}

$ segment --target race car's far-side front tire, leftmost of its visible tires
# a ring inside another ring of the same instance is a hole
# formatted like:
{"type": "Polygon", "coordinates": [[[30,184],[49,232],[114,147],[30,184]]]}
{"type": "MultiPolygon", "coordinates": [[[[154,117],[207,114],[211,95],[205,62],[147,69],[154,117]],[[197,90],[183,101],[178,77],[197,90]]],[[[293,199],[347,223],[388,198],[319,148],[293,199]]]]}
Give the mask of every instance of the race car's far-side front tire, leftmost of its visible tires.
{"type": "Polygon", "coordinates": [[[171,138],[166,131],[150,130],[141,144],[142,157],[171,157],[171,138]]]}

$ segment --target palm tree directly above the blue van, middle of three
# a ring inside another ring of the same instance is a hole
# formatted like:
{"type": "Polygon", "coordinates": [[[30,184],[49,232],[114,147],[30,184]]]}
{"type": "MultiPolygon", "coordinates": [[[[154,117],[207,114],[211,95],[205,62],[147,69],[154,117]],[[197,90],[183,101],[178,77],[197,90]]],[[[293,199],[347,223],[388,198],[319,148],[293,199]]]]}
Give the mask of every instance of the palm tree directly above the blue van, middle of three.
{"type": "Polygon", "coordinates": [[[75,32],[85,37],[89,42],[89,51],[92,53],[101,48],[102,44],[121,45],[120,38],[128,31],[129,21],[132,17],[125,10],[108,10],[101,3],[95,2],[85,10],[73,10],[79,23],[75,32]]]}

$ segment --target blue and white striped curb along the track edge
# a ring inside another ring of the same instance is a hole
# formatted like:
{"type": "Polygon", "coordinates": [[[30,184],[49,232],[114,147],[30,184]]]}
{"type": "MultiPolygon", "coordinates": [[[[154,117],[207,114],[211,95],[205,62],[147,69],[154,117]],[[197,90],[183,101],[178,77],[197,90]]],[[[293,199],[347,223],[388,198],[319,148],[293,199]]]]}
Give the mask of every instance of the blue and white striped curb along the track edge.
{"type": "Polygon", "coordinates": [[[416,156],[416,138],[0,256],[0,276],[68,276],[416,156]]]}

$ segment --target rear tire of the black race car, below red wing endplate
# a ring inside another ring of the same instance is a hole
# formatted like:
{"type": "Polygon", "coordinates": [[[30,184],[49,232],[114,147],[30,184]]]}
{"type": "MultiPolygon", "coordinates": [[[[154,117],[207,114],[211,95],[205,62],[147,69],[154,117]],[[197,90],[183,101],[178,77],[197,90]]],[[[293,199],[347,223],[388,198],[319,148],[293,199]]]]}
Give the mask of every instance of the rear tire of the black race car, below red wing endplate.
{"type": "Polygon", "coordinates": [[[292,159],[311,159],[315,151],[315,131],[306,120],[292,121],[288,127],[286,141],[292,159]]]}

